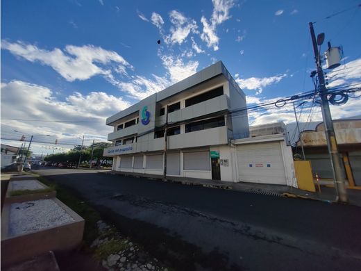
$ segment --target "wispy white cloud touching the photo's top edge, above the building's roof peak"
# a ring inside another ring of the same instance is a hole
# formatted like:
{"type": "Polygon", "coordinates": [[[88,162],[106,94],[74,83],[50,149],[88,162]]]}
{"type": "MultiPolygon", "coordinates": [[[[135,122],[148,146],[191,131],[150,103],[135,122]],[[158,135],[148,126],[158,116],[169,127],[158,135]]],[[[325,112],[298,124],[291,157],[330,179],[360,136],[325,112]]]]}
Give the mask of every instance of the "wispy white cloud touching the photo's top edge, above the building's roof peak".
{"type": "Polygon", "coordinates": [[[203,33],[201,39],[207,43],[208,47],[213,47],[214,51],[219,49],[219,37],[216,33],[216,28],[230,18],[229,10],[234,6],[233,0],[212,0],[213,13],[210,22],[202,16],[201,23],[203,24],[203,33]]]}

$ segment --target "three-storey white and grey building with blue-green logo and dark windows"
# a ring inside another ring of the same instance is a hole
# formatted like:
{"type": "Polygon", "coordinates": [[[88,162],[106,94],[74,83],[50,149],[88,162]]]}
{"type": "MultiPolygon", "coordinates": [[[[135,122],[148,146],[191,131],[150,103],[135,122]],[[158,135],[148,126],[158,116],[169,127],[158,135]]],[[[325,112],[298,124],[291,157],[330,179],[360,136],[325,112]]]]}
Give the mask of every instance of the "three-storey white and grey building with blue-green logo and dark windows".
{"type": "Polygon", "coordinates": [[[249,137],[246,97],[218,62],[108,117],[113,170],[237,180],[230,140],[249,137]],[[165,130],[167,135],[165,136],[165,130]]]}

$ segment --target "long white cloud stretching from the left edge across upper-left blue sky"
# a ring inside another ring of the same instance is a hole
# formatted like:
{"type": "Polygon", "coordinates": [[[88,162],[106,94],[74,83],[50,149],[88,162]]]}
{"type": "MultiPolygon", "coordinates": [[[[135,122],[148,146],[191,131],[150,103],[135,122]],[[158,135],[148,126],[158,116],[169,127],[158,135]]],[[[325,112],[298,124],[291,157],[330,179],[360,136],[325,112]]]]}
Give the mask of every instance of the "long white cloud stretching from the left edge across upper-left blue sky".
{"type": "Polygon", "coordinates": [[[67,81],[86,80],[98,74],[108,76],[112,69],[125,75],[126,68],[133,68],[115,51],[108,51],[93,45],[83,45],[82,47],[67,45],[64,51],[58,48],[48,51],[32,44],[10,43],[2,40],[1,49],[6,49],[11,54],[28,61],[49,65],[67,81]],[[109,65],[108,69],[99,67],[96,63],[109,65]]]}

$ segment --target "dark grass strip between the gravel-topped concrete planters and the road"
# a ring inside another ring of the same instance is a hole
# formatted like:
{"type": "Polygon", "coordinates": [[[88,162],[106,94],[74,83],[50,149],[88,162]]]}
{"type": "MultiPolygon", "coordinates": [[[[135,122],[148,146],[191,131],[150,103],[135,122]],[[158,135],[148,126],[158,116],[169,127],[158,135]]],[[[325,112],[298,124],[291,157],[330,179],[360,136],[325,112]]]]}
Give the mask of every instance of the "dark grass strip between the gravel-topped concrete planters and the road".
{"type": "Polygon", "coordinates": [[[90,247],[93,240],[98,237],[98,228],[96,222],[101,220],[101,217],[98,212],[94,210],[91,206],[85,204],[76,196],[75,192],[72,192],[71,189],[60,186],[44,176],[37,178],[38,181],[44,183],[46,186],[51,186],[56,190],[56,197],[60,199],[61,202],[69,206],[74,212],[78,213],[85,220],[84,235],[83,241],[85,244],[90,247]]]}

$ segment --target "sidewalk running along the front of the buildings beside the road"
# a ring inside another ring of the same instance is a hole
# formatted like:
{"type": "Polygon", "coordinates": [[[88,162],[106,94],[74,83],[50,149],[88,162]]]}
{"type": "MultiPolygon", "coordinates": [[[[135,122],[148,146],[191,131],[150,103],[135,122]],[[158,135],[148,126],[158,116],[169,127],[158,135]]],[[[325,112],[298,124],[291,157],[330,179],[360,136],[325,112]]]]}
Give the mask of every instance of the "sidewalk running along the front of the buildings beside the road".
{"type": "MultiPolygon", "coordinates": [[[[152,174],[139,174],[133,172],[99,172],[103,174],[119,174],[125,176],[137,176],[148,179],[159,179],[162,180],[160,175],[152,174]]],[[[242,192],[251,192],[255,194],[270,195],[276,197],[299,197],[303,199],[319,200],[321,202],[333,203],[336,199],[336,192],[334,188],[321,186],[321,192],[308,192],[298,188],[281,185],[271,185],[265,183],[234,183],[232,181],[216,181],[210,179],[195,179],[195,178],[183,178],[176,176],[167,176],[167,181],[174,183],[183,183],[194,186],[205,186],[210,188],[223,188],[242,192]]],[[[349,196],[349,204],[361,206],[361,190],[347,190],[349,196]]]]}

